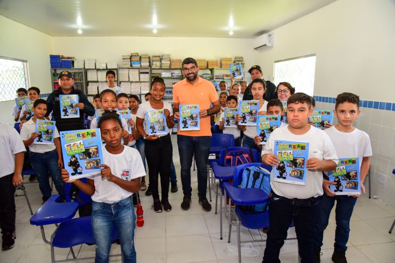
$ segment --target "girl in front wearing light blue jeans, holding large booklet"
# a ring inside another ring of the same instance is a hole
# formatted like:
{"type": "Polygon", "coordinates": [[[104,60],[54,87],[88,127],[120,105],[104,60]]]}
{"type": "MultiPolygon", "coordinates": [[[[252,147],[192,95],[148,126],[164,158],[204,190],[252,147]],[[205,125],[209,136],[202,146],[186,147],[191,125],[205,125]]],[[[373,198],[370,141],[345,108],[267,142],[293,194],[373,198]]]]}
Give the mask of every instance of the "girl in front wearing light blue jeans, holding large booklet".
{"type": "Polygon", "coordinates": [[[137,150],[121,144],[122,126],[115,112],[105,112],[100,117],[98,127],[106,143],[102,149],[104,164],[100,164],[103,167],[101,176],[88,178],[86,183],[79,179],[68,181],[69,172],[62,169],[64,182],[74,183],[83,193],[92,196],[91,224],[96,244],[96,263],[109,262],[114,224],[118,230],[124,262],[136,262],[136,216],[130,196],[139,191],[140,177],[145,175],[145,171],[137,150]]]}

